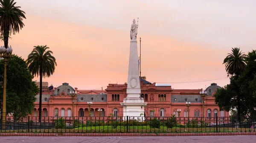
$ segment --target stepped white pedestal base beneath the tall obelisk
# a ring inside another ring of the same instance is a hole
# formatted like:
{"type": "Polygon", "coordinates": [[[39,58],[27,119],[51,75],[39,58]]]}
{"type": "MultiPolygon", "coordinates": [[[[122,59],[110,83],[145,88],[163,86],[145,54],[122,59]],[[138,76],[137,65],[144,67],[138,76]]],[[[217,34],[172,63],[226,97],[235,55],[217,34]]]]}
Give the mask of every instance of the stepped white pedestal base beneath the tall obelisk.
{"type": "Polygon", "coordinates": [[[140,97],[127,97],[124,98],[123,103],[120,103],[123,107],[124,118],[126,116],[144,117],[144,107],[148,104],[144,102],[140,97]]]}

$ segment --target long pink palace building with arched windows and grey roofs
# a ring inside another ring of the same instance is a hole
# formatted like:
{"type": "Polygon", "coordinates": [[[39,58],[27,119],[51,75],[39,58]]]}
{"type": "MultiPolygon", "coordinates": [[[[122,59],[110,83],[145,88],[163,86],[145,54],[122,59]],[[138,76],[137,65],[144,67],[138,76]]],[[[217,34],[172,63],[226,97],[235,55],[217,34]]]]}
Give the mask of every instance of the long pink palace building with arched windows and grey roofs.
{"type": "MultiPolygon", "coordinates": [[[[87,102],[93,102],[91,116],[99,116],[98,109],[102,109],[101,116],[122,116],[123,108],[120,103],[127,96],[127,84],[108,84],[105,90],[78,90],[68,83],[49,90],[51,87],[44,86],[42,95],[42,116],[65,116],[88,117],[89,107],[87,102]],[[72,98],[70,91],[76,91],[77,95],[72,98]],[[74,104],[74,105],[73,105],[74,104]]],[[[214,102],[213,94],[216,92],[217,84],[212,83],[207,87],[207,97],[204,101],[204,117],[227,117],[229,112],[220,111],[214,102]]],[[[157,85],[141,79],[141,97],[147,102],[145,116],[178,117],[177,109],[181,110],[180,117],[203,117],[203,104],[199,92],[202,89],[179,90],[173,89],[171,85],[157,85]],[[191,102],[189,112],[186,102],[191,102]],[[189,115],[188,115],[189,114],[189,115]]],[[[38,116],[39,94],[36,95],[35,109],[32,116],[38,116]]]]}

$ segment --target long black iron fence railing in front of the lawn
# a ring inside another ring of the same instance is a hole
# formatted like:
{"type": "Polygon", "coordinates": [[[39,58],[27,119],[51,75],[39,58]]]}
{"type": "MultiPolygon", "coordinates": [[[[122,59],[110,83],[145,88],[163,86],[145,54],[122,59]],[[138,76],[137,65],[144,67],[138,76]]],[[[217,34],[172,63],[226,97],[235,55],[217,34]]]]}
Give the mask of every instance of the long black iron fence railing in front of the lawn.
{"type": "Polygon", "coordinates": [[[255,132],[256,118],[231,117],[38,117],[0,120],[0,132],[170,133],[255,132]]]}

